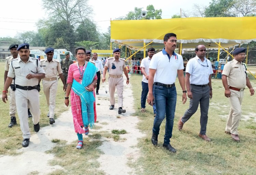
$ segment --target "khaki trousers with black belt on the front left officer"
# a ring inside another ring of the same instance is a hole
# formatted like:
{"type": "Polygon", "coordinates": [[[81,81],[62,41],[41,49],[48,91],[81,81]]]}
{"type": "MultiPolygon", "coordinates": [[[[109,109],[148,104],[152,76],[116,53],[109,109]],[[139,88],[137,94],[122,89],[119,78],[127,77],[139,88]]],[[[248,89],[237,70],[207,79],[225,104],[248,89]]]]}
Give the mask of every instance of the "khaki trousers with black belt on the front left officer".
{"type": "Polygon", "coordinates": [[[30,131],[28,126],[28,107],[30,108],[30,112],[33,116],[33,124],[36,125],[40,120],[39,92],[37,89],[16,89],[15,98],[20,129],[22,130],[23,138],[30,138],[30,131]]]}

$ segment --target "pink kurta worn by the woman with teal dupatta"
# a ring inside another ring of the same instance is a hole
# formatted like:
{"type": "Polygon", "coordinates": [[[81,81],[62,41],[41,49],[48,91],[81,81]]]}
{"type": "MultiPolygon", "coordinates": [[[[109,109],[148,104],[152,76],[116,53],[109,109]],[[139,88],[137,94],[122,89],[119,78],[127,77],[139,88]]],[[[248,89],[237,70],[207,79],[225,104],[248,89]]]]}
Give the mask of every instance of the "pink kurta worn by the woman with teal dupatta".
{"type": "MultiPolygon", "coordinates": [[[[79,68],[82,72],[83,66],[80,66],[79,68]]],[[[69,66],[67,83],[72,83],[73,79],[75,79],[77,82],[79,82],[81,84],[82,78],[80,79],[80,72],[77,68],[76,63],[73,63],[69,66]]],[[[95,75],[94,79],[97,79],[97,75],[95,75]]],[[[72,115],[73,115],[75,132],[77,133],[79,131],[81,132],[82,131],[81,126],[82,127],[84,126],[83,119],[82,119],[82,113],[81,113],[81,100],[80,100],[80,97],[77,96],[72,89],[71,89],[70,93],[71,93],[71,95],[70,95],[71,111],[72,111],[72,115]]],[[[95,97],[95,92],[93,94],[95,97]]],[[[96,121],[96,118],[97,118],[96,105],[94,102],[94,121],[96,121]]],[[[84,130],[82,133],[84,133],[84,130]]],[[[82,133],[80,133],[80,134],[82,134],[82,133]]]]}

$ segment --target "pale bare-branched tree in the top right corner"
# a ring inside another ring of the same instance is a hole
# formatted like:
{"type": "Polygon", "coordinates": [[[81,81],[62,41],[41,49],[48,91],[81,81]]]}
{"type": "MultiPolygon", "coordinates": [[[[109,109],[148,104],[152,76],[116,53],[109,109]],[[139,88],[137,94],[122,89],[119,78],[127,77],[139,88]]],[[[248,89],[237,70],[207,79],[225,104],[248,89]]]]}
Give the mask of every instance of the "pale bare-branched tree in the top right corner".
{"type": "Polygon", "coordinates": [[[256,0],[234,0],[233,8],[237,16],[255,16],[256,0]]]}

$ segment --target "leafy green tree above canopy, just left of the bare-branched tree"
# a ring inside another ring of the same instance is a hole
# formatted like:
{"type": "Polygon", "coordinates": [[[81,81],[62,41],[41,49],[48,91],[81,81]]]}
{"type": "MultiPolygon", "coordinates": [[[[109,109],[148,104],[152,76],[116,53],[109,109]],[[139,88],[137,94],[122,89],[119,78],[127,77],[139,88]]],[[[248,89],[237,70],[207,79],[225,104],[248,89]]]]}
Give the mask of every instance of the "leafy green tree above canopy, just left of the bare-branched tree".
{"type": "Polygon", "coordinates": [[[210,5],[205,9],[205,17],[232,17],[236,16],[232,13],[233,0],[212,0],[210,5]]]}

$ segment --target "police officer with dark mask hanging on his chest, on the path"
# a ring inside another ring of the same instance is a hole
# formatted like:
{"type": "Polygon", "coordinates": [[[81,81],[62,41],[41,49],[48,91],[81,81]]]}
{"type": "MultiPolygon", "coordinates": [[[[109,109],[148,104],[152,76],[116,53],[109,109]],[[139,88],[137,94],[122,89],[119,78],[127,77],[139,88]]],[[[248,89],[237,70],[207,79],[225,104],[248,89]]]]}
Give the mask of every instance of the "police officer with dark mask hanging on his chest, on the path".
{"type": "Polygon", "coordinates": [[[125,59],[120,58],[120,49],[116,48],[113,50],[114,57],[109,58],[105,64],[103,70],[102,82],[104,83],[106,78],[106,71],[109,69],[109,94],[110,94],[110,110],[115,107],[115,88],[117,89],[118,95],[118,114],[125,113],[123,110],[123,90],[124,90],[124,79],[123,71],[126,76],[126,84],[129,84],[129,77],[126,70],[125,59]]]}

